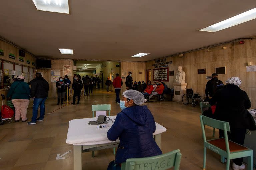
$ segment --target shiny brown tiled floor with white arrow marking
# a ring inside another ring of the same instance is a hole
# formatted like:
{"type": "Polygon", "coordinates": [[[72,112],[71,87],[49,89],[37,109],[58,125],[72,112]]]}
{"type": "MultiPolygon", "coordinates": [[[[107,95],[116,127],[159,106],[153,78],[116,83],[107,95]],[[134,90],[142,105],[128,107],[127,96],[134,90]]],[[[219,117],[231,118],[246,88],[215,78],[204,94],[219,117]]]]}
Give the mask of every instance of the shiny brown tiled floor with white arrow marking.
{"type": "MultiPolygon", "coordinates": [[[[115,103],[115,94],[104,90],[95,90],[89,97],[81,98],[80,105],[56,105],[55,99],[46,101],[45,120],[36,125],[6,123],[0,126],[0,170],[72,170],[73,153],[65,159],[56,160],[57,154],[73,150],[66,144],[69,120],[92,117],[92,104],[111,104],[111,115],[120,112],[115,103]],[[54,111],[54,112],[52,112],[54,111]]],[[[200,127],[200,108],[185,106],[172,101],[154,101],[147,103],[155,121],[167,128],[162,134],[163,153],[180,149],[182,153],[181,170],[200,170],[203,163],[203,140],[200,127]]],[[[31,118],[32,104],[28,108],[31,118]]],[[[206,128],[207,136],[212,129],[206,128]]],[[[218,131],[217,131],[218,136],[218,131]]],[[[112,149],[83,153],[84,170],[105,170],[114,160],[112,149]]],[[[207,150],[206,169],[225,169],[220,156],[207,150]]],[[[231,169],[231,168],[230,168],[231,169]]]]}

